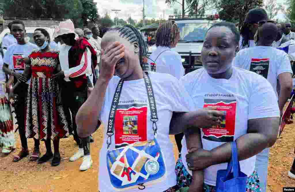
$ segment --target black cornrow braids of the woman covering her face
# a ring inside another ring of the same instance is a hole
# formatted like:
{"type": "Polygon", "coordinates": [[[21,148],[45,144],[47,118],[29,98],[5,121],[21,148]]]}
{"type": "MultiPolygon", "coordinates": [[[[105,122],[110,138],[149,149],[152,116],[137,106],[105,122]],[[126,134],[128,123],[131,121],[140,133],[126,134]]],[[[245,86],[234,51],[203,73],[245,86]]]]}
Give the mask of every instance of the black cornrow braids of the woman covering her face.
{"type": "Polygon", "coordinates": [[[139,46],[139,61],[142,66],[143,60],[148,54],[148,45],[142,38],[140,32],[132,25],[125,25],[123,27],[110,28],[108,31],[118,31],[120,37],[127,39],[130,43],[137,42],[139,46]]]}

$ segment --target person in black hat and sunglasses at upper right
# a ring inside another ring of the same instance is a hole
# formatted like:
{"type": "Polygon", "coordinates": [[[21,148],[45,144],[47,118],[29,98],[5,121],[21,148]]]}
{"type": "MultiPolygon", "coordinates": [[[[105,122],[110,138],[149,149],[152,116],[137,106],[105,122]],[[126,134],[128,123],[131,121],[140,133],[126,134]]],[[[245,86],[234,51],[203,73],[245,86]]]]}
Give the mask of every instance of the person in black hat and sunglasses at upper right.
{"type": "Polygon", "coordinates": [[[244,24],[240,29],[240,49],[255,46],[254,36],[258,29],[258,22],[262,20],[268,20],[265,9],[255,8],[247,13],[244,24]]]}

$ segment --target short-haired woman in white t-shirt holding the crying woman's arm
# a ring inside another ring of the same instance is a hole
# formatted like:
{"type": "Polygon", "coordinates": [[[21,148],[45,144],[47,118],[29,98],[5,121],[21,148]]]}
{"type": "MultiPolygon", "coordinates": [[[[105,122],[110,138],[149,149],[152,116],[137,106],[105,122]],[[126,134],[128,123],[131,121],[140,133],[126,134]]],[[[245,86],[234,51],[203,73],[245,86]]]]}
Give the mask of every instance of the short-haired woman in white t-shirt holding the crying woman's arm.
{"type": "MultiPolygon", "coordinates": [[[[176,172],[179,187],[189,186],[189,192],[203,192],[203,187],[206,192],[215,191],[217,171],[226,169],[231,159],[231,141],[237,143],[241,171],[248,175],[247,191],[260,191],[255,155],[275,143],[280,113],[276,94],[265,78],[232,67],[239,39],[233,23],[213,25],[201,51],[203,68],[180,80],[195,109],[211,106],[223,111],[220,125],[185,133],[176,172]]],[[[177,119],[171,124],[182,125],[177,119]]]]}

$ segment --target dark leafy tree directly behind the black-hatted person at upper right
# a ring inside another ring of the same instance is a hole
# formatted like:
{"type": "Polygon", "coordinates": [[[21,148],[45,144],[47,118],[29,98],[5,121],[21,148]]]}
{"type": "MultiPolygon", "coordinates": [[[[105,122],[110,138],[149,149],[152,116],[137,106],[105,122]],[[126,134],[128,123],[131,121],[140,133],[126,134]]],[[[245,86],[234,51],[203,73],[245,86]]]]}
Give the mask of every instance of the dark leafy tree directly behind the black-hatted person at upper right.
{"type": "Polygon", "coordinates": [[[221,20],[239,22],[241,26],[250,9],[262,7],[263,0],[218,0],[216,7],[221,20]]]}

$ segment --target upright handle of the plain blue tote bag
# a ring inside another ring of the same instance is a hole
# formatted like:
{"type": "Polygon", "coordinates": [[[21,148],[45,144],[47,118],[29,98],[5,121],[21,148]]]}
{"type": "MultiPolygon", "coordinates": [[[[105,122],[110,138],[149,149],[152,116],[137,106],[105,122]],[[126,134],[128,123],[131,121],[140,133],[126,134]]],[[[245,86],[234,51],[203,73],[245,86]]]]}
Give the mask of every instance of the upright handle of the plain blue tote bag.
{"type": "Polygon", "coordinates": [[[235,141],[230,142],[230,146],[232,149],[232,158],[230,163],[227,164],[227,174],[226,177],[230,174],[231,170],[234,173],[234,178],[239,177],[239,172],[241,171],[240,162],[238,162],[238,152],[237,152],[237,144],[235,141]]]}

